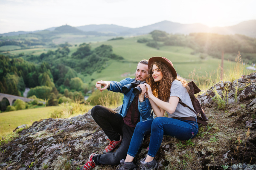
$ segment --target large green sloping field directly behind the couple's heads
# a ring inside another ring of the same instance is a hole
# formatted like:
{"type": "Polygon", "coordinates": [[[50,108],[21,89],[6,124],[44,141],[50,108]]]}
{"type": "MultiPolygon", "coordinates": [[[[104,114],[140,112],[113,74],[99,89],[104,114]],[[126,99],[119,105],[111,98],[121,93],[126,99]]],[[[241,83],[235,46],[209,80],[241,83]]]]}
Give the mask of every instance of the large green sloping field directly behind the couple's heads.
{"type": "MultiPolygon", "coordinates": [[[[93,73],[85,77],[86,82],[93,80],[94,84],[98,80],[116,80],[119,81],[125,77],[121,77],[124,73],[130,73],[128,77],[134,78],[134,73],[137,67],[137,62],[142,59],[149,59],[150,57],[160,56],[166,57],[172,61],[174,67],[181,77],[189,78],[188,75],[196,69],[198,74],[205,75],[218,68],[221,63],[220,59],[207,56],[206,59],[200,59],[198,55],[190,54],[194,51],[192,48],[180,46],[163,46],[159,50],[145,45],[145,43],[138,43],[139,38],[151,38],[151,35],[143,35],[137,37],[126,38],[124,40],[115,40],[107,42],[93,43],[92,48],[96,48],[102,44],[113,46],[113,53],[125,58],[127,62],[109,61],[108,67],[101,71],[101,73],[93,73]]],[[[229,65],[228,61],[224,61],[224,69],[229,65]]]]}

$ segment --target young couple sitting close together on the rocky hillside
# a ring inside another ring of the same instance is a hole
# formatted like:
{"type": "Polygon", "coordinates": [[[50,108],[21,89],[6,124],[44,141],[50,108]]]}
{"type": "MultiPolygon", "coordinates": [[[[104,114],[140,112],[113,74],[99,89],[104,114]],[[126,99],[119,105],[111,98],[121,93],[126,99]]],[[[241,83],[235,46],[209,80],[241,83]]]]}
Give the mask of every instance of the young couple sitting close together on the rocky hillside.
{"type": "MultiPolygon", "coordinates": [[[[118,170],[137,170],[133,159],[143,143],[145,134],[150,133],[148,155],[140,163],[142,170],[153,170],[157,167],[154,156],[161,145],[163,135],[189,140],[198,133],[196,115],[180,104],[183,102],[194,109],[188,93],[189,86],[186,80],[177,77],[169,59],[152,57],[148,61],[140,61],[135,77],[136,80],[146,81],[147,84],[138,85],[142,90],[139,96],[133,93],[133,88],[124,94],[120,113],[100,105],[92,109],[93,119],[108,136],[110,143],[103,154],[92,153],[81,170],[91,170],[99,164],[119,164],[118,170]],[[164,117],[165,112],[168,113],[168,118],[164,117]],[[116,152],[111,152],[119,144],[116,152]]],[[[135,79],[126,78],[120,82],[99,81],[96,88],[100,91],[108,89],[122,93],[122,87],[135,79]]]]}

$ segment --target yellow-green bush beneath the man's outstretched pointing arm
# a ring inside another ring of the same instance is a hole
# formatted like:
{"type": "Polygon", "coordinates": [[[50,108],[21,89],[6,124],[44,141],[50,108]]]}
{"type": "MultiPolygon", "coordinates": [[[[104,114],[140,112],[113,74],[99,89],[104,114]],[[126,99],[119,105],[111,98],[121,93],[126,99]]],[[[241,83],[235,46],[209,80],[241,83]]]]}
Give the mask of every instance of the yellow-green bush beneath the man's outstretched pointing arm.
{"type": "Polygon", "coordinates": [[[87,99],[90,105],[102,105],[106,107],[117,107],[122,104],[123,94],[114,93],[112,91],[94,91],[93,94],[87,99]]]}

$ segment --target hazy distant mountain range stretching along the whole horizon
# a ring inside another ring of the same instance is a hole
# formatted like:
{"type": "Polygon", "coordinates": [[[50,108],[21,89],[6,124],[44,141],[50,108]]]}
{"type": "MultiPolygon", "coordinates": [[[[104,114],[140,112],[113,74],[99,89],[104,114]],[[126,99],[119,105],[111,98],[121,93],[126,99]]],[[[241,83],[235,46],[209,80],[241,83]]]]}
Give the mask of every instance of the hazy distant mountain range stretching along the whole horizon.
{"type": "MultiPolygon", "coordinates": [[[[244,21],[235,26],[228,27],[208,27],[200,23],[195,24],[180,24],[171,21],[162,21],[154,23],[149,26],[143,26],[140,28],[129,28],[117,25],[87,25],[87,26],[60,26],[45,29],[52,34],[58,33],[73,33],[73,34],[85,34],[85,35],[107,35],[107,36],[122,36],[122,35],[141,35],[148,34],[154,30],[166,31],[169,34],[189,34],[193,32],[210,32],[217,34],[243,34],[249,37],[256,37],[256,20],[244,21]]],[[[12,36],[19,34],[35,33],[38,31],[18,31],[0,34],[4,36],[12,36]]]]}

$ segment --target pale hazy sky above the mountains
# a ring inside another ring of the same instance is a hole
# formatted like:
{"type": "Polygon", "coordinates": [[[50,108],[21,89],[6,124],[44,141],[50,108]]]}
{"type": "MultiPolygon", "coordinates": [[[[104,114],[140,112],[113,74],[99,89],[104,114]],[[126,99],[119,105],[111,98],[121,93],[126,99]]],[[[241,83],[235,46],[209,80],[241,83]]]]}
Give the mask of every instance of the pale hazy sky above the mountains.
{"type": "Polygon", "coordinates": [[[163,20],[232,26],[255,20],[255,7],[256,0],[0,0],[0,34],[65,24],[137,28],[163,20]]]}

